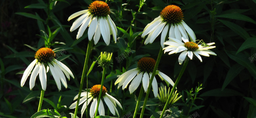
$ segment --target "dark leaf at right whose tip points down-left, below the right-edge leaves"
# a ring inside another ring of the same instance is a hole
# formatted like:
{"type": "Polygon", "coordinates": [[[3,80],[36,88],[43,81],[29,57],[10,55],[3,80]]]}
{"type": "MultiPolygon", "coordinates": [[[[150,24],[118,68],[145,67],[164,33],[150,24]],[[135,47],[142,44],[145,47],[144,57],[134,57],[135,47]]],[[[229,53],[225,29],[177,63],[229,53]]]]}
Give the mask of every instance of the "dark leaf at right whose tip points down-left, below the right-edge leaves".
{"type": "Polygon", "coordinates": [[[227,76],[225,78],[225,81],[222,85],[222,89],[224,90],[224,88],[242,71],[244,70],[244,66],[241,66],[240,64],[235,64],[233,65],[227,73],[227,76]]]}

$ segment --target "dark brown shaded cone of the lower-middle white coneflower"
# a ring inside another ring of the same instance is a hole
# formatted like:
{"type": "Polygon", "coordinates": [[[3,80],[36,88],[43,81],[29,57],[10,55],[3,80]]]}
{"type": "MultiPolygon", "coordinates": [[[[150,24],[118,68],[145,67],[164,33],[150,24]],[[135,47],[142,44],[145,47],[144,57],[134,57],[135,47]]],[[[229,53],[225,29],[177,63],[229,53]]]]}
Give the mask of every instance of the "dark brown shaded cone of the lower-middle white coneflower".
{"type": "Polygon", "coordinates": [[[150,57],[143,57],[138,61],[138,68],[145,72],[153,72],[155,65],[156,60],[150,57]]]}

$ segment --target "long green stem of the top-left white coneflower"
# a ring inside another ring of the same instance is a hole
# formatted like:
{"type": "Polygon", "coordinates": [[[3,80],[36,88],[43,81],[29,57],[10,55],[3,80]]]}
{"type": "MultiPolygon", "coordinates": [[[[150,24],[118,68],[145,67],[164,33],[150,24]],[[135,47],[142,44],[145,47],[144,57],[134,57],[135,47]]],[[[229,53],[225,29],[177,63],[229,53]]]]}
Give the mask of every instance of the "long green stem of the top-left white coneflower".
{"type": "Polygon", "coordinates": [[[80,101],[80,97],[81,97],[81,92],[82,92],[82,89],[83,89],[84,77],[85,77],[85,72],[86,72],[86,68],[87,68],[87,64],[88,64],[88,60],[89,60],[89,55],[90,55],[91,47],[92,47],[92,41],[89,41],[88,42],[88,46],[87,46],[87,51],[86,51],[86,57],[85,57],[85,61],[84,61],[84,69],[83,69],[83,74],[82,74],[82,78],[81,78],[81,83],[80,83],[77,103],[76,103],[76,110],[75,110],[75,114],[74,114],[75,117],[77,115],[78,105],[79,105],[79,101],[80,101]]]}

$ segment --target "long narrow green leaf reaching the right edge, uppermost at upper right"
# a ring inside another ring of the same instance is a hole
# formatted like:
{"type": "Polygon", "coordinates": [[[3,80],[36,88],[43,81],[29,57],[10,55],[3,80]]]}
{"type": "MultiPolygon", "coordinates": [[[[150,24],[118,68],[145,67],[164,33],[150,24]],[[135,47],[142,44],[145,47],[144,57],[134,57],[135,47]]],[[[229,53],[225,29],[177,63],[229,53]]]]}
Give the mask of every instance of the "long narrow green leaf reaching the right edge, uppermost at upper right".
{"type": "Polygon", "coordinates": [[[243,21],[247,21],[247,22],[251,22],[253,24],[256,24],[256,22],[252,18],[250,18],[248,16],[245,16],[245,15],[242,15],[242,14],[239,14],[239,13],[222,14],[222,15],[217,15],[215,17],[243,20],[243,21]]]}

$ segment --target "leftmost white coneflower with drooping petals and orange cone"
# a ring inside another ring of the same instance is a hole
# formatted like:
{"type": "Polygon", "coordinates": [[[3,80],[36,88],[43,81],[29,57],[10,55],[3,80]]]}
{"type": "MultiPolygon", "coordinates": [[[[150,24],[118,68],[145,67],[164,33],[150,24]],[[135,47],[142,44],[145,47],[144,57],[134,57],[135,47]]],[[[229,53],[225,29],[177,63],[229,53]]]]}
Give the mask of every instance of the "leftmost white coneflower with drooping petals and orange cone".
{"type": "Polygon", "coordinates": [[[32,90],[32,88],[35,86],[36,77],[38,74],[39,74],[39,79],[40,79],[40,82],[42,85],[42,89],[44,91],[46,90],[46,81],[47,81],[46,72],[48,72],[49,68],[50,68],[52,76],[57,84],[59,91],[61,90],[60,81],[67,88],[68,85],[67,85],[65,75],[68,78],[68,80],[70,79],[70,76],[73,78],[74,78],[74,76],[66,65],[64,65],[60,61],[54,59],[54,57],[55,57],[55,53],[54,53],[54,51],[52,51],[52,49],[40,48],[35,54],[36,59],[32,63],[30,63],[28,68],[24,71],[24,74],[21,78],[20,85],[23,86],[25,84],[30,72],[32,71],[32,69],[35,66],[34,70],[31,73],[30,80],[29,80],[30,90],[32,90]]]}

